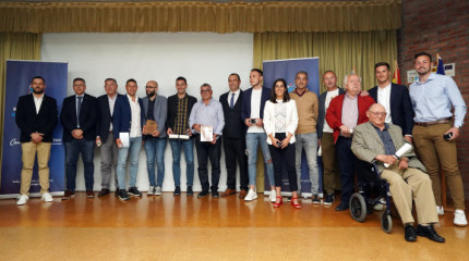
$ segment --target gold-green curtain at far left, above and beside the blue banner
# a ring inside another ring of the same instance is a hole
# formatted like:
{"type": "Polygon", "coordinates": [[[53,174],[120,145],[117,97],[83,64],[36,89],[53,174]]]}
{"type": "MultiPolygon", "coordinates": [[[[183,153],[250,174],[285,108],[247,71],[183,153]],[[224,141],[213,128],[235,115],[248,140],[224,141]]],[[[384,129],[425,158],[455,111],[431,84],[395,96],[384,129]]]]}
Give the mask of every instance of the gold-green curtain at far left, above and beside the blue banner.
{"type": "MultiPolygon", "coordinates": [[[[5,66],[8,59],[40,60],[40,34],[28,33],[0,33],[0,162],[2,162],[3,141],[3,115],[5,94],[5,66]]],[[[0,166],[1,177],[1,166],[0,166]]],[[[1,178],[0,178],[1,181],[1,178]]]]}

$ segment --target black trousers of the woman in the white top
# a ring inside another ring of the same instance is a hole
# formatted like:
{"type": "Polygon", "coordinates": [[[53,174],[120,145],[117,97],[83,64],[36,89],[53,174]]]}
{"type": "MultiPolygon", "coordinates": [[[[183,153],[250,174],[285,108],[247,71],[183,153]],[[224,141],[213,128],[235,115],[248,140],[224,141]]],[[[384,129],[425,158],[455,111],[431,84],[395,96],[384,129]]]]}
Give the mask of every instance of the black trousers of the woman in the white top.
{"type": "MultiPolygon", "coordinates": [[[[285,139],[285,133],[275,134],[278,140],[285,139]]],[[[270,151],[272,162],[274,164],[275,186],[281,187],[282,165],[287,165],[288,182],[290,183],[290,191],[298,190],[297,167],[296,167],[296,148],[294,144],[289,144],[285,149],[276,148],[273,145],[268,146],[270,151]]]]}

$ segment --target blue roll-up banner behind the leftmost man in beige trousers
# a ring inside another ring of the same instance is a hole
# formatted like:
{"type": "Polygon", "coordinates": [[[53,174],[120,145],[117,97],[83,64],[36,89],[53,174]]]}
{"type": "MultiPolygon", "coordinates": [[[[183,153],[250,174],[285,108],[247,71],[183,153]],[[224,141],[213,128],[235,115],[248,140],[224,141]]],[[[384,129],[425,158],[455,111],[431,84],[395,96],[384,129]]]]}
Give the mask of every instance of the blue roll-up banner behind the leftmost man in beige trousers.
{"type": "MultiPolygon", "coordinates": [[[[29,84],[34,76],[46,79],[45,94],[57,100],[58,112],[67,96],[68,63],[39,61],[7,61],[7,88],[3,122],[3,157],[1,165],[0,198],[13,198],[20,194],[22,151],[20,128],[15,123],[16,103],[21,96],[32,92],[29,84]]],[[[64,190],[64,147],[62,146],[62,126],[60,121],[53,129],[52,148],[49,161],[49,191],[62,195],[64,190]]],[[[37,173],[37,161],[33,171],[29,192],[39,196],[40,185],[37,173]]]]}

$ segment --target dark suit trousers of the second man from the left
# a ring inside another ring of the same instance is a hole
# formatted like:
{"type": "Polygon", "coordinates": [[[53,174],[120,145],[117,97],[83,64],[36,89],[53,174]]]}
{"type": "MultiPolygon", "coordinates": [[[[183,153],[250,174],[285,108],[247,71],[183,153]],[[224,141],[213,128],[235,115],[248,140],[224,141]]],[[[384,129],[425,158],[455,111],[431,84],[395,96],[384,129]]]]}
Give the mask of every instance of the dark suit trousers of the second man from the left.
{"type": "Polygon", "coordinates": [[[80,152],[82,153],[82,161],[85,169],[85,187],[86,190],[93,190],[95,164],[93,158],[95,157],[95,141],[86,139],[73,139],[65,142],[65,177],[67,190],[75,191],[76,179],[76,163],[79,162],[80,152]]]}

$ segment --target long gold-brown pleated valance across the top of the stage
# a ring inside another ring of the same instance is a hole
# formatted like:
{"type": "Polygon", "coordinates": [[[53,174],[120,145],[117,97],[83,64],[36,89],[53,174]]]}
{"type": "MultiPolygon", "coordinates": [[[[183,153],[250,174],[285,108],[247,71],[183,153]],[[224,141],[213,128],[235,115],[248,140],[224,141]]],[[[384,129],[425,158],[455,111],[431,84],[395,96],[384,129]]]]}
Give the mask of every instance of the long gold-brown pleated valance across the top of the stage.
{"type": "Polygon", "coordinates": [[[400,0],[2,2],[0,32],[371,32],[400,28],[400,0]]]}

